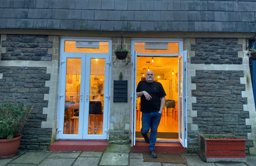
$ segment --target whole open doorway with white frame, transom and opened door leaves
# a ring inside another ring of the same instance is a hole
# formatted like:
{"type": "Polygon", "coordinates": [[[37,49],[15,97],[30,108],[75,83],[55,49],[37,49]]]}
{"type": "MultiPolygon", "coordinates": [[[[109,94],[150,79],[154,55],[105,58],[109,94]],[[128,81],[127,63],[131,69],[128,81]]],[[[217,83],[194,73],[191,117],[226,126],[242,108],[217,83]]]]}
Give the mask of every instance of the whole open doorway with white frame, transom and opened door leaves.
{"type": "Polygon", "coordinates": [[[155,80],[167,92],[157,142],[179,142],[187,147],[187,51],[183,51],[183,39],[132,39],[131,65],[132,146],[143,140],[137,84],[145,79],[143,73],[153,70],[155,80]]]}

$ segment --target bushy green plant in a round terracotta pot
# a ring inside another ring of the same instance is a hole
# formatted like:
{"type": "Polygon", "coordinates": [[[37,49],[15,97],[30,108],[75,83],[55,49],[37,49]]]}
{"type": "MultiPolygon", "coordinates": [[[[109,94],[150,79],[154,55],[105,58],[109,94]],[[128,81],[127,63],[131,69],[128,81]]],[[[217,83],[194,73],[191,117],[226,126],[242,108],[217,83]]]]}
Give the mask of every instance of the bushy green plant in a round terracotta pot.
{"type": "Polygon", "coordinates": [[[29,108],[10,102],[0,105],[0,157],[15,156],[20,146],[21,130],[33,106],[29,108]]]}

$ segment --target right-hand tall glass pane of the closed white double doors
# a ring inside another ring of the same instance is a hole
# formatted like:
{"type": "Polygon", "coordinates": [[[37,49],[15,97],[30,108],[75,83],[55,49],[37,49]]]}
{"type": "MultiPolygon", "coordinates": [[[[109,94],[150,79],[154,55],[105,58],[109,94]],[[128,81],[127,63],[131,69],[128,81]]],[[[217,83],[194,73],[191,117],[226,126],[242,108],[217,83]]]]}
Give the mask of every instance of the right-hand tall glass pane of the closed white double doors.
{"type": "Polygon", "coordinates": [[[105,59],[91,59],[89,135],[102,135],[104,103],[105,59]]]}

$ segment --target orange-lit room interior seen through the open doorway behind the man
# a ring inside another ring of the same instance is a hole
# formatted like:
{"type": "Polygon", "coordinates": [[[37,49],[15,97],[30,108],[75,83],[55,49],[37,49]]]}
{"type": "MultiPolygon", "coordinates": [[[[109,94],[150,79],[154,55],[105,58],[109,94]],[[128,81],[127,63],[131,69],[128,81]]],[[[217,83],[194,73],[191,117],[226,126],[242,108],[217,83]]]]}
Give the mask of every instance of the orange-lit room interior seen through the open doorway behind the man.
{"type": "MultiPolygon", "coordinates": [[[[178,56],[137,56],[137,79],[136,87],[141,80],[145,79],[145,73],[151,70],[155,73],[154,80],[163,85],[166,103],[162,118],[157,130],[157,140],[178,141],[179,139],[179,59],[178,56]]],[[[140,98],[136,102],[135,138],[143,139],[140,133],[141,112],[140,98]]],[[[150,131],[149,131],[150,135],[150,131]]]]}

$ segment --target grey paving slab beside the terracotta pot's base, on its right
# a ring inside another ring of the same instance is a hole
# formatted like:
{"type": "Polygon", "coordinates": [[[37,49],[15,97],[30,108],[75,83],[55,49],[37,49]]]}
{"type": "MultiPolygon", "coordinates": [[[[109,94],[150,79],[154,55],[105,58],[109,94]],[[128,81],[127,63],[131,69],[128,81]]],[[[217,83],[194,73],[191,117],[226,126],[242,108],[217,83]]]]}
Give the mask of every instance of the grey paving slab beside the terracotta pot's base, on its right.
{"type": "Polygon", "coordinates": [[[27,152],[11,163],[39,164],[49,155],[50,152],[27,152]]]}

